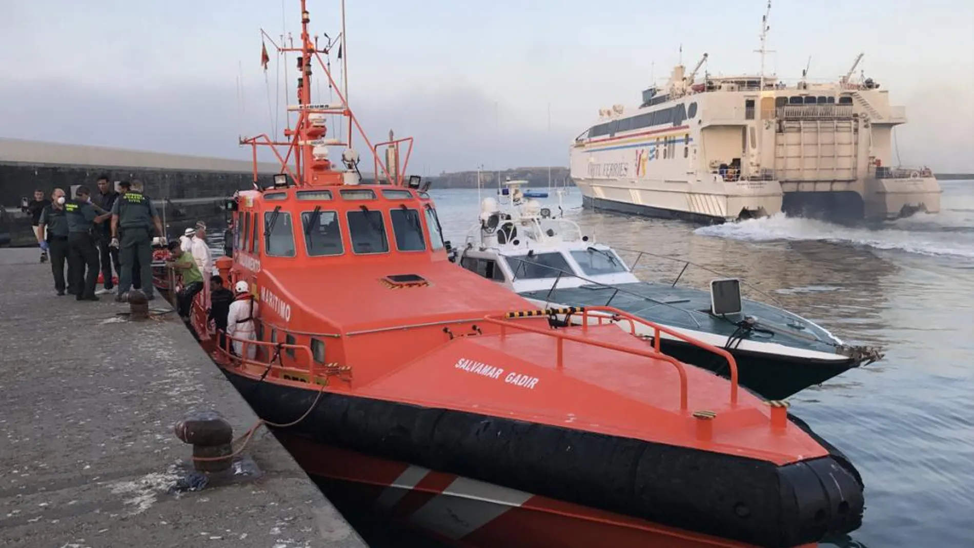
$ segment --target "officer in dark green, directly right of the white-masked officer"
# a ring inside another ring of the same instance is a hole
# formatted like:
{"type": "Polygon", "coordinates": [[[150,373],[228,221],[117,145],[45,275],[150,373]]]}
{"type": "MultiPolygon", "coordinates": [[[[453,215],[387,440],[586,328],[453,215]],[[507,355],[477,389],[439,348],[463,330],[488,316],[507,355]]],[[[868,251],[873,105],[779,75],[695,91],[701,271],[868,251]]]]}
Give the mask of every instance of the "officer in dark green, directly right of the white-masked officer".
{"type": "Polygon", "coordinates": [[[110,213],[98,215],[92,204],[92,191],[82,185],[75,191],[74,200],[64,202],[64,216],[67,219],[68,261],[73,263],[73,285],[78,289],[75,298],[97,301],[94,286],[98,282],[98,246],[93,231],[95,223],[103,223],[110,213]]]}

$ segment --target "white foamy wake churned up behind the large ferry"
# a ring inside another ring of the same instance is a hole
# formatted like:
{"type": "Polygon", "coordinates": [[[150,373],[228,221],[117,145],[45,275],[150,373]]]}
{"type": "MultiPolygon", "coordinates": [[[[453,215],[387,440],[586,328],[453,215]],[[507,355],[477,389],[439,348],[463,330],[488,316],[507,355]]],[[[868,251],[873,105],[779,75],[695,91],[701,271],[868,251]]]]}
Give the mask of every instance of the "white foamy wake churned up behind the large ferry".
{"type": "Polygon", "coordinates": [[[844,227],[815,219],[785,217],[783,214],[723,225],[700,227],[699,236],[724,237],[745,241],[826,241],[882,250],[899,250],[920,255],[974,259],[974,237],[958,231],[974,231],[959,211],[922,214],[888,223],[880,229],[844,227]],[[926,230],[911,230],[922,225],[926,230]],[[966,226],[965,226],[966,225],[966,226]],[[889,228],[886,228],[889,227],[889,228]]]}

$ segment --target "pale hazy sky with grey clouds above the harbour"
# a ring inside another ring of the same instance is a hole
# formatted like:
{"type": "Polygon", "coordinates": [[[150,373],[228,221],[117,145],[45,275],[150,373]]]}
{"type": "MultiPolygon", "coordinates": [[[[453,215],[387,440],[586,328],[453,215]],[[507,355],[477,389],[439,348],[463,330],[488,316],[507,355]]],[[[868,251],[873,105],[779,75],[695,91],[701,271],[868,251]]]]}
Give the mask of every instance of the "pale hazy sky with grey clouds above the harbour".
{"type": "MultiPolygon", "coordinates": [[[[707,53],[711,74],[759,72],[767,2],[346,3],[350,106],[373,142],[412,135],[409,171],[436,174],[567,165],[598,110],[638,106],[681,45],[688,71],[707,53]]],[[[313,32],[338,35],[339,0],[308,8],[313,32]]],[[[260,66],[260,28],[279,41],[299,12],[298,0],[0,0],[0,136],[249,159],[238,136],[280,131],[288,102],[269,42],[260,66]]],[[[834,80],[864,53],[859,69],[906,106],[902,164],[974,172],[974,2],[775,0],[768,23],[768,73],[798,79],[807,63],[809,80],[834,80]]],[[[339,67],[332,55],[341,84],[339,67]]]]}

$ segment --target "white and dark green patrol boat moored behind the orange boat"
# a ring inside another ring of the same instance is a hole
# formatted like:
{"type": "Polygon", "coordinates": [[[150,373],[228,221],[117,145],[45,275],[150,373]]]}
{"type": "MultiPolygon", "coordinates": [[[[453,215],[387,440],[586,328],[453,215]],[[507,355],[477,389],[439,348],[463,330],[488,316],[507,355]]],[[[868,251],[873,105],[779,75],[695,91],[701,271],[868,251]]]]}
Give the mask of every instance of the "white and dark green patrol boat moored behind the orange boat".
{"type": "MultiPolygon", "coordinates": [[[[506,182],[511,188],[499,196],[505,203],[494,198],[481,202],[480,219],[470,228],[456,260],[540,308],[611,305],[725,347],[737,361],[740,384],[768,399],[784,399],[881,357],[875,348],[846,346],[797,314],[742,299],[736,278],[713,280],[709,292],[642,281],[612,247],[582,235],[577,223],[552,214],[540,202],[525,199],[520,184],[506,182]]],[[[569,314],[553,316],[552,321],[564,325],[582,320],[579,314],[569,314]]],[[[588,321],[600,320],[592,314],[588,321]]],[[[618,325],[653,339],[650,327],[624,321],[618,325]]],[[[723,358],[698,352],[674,337],[662,334],[660,345],[682,361],[730,374],[723,358]]]]}

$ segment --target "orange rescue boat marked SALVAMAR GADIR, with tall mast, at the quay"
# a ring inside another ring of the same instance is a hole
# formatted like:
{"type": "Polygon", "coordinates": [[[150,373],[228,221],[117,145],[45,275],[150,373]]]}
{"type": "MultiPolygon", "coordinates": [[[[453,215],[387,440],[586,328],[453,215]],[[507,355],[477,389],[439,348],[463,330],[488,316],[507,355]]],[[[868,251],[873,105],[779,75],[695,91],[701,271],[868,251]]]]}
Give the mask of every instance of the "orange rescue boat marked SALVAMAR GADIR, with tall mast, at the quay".
{"type": "MultiPolygon", "coordinates": [[[[402,175],[412,138],[362,133],[363,180],[361,129],[321,62],[335,44],[318,48],[309,20],[301,0],[299,46],[279,48],[298,55],[297,125],[242,141],[255,159],[270,145],[281,174],[262,186],[255,163],[217,262],[249,285],[256,339],[220,347],[202,294],[191,324],[325,494],[464,547],[779,548],[860,526],[855,468],[785,404],[739,390],[726,350],[689,340],[728,359],[730,382],[609,322],[554,329],[566,311],[451,263],[426,187],[402,175]],[[336,103],[312,103],[313,61],[336,103]],[[329,115],[349,134],[325,138],[329,115]],[[343,166],[328,147],[346,147],[343,166]]],[[[572,310],[592,311],[663,330],[572,310]]]]}

